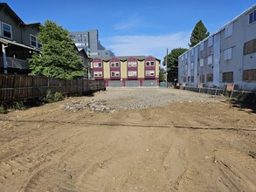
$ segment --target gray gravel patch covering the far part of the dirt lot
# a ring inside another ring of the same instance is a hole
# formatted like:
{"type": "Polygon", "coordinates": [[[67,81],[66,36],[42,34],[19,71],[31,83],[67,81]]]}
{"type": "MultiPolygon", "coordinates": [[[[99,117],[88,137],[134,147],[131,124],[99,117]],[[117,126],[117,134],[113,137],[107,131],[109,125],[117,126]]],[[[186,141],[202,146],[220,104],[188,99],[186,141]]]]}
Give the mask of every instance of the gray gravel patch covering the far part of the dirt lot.
{"type": "Polygon", "coordinates": [[[114,113],[130,109],[145,109],[166,106],[173,102],[218,102],[218,99],[203,93],[193,93],[163,88],[108,89],[95,93],[93,99],[73,99],[61,106],[65,110],[77,112],[89,109],[91,112],[114,113]]]}

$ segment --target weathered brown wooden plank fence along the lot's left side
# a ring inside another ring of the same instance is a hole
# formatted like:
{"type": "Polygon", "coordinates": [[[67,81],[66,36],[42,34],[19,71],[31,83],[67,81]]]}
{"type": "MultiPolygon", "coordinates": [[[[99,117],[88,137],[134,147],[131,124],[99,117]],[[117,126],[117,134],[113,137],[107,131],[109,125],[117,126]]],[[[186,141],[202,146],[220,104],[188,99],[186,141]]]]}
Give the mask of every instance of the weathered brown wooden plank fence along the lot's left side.
{"type": "Polygon", "coordinates": [[[0,103],[45,97],[47,90],[62,94],[105,90],[104,80],[55,79],[38,76],[0,74],[0,103]]]}

